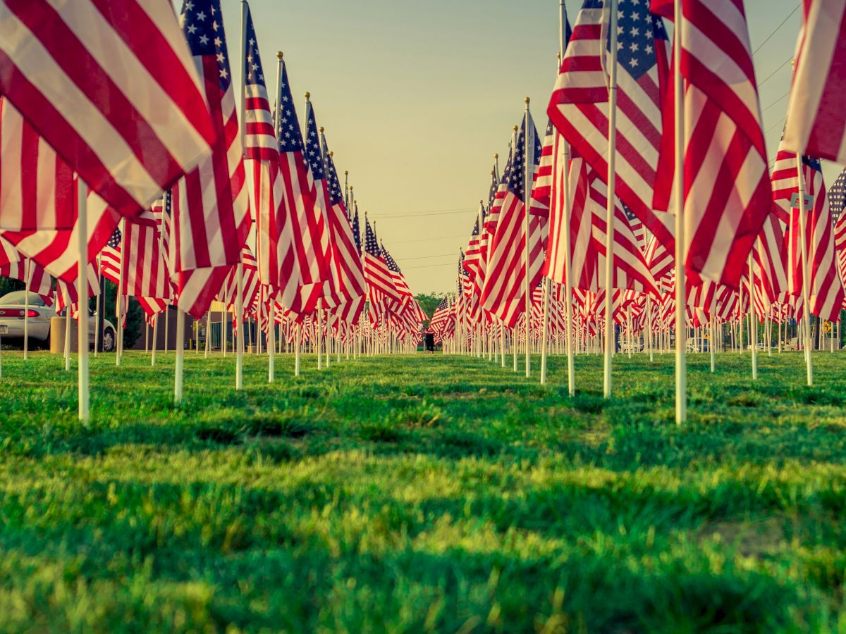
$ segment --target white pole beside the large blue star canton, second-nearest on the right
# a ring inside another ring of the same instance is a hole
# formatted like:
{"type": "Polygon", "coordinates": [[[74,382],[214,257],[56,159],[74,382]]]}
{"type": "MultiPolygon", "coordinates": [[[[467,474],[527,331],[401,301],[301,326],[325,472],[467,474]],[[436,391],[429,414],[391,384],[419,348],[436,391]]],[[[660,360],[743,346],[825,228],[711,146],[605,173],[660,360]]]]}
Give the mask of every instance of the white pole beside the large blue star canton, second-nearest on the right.
{"type": "MultiPolygon", "coordinates": [[[[608,84],[608,199],[605,205],[605,364],[603,393],[611,397],[611,357],[614,347],[613,283],[614,283],[614,185],[617,180],[617,0],[609,3],[609,46],[611,47],[611,75],[608,84]]],[[[569,230],[569,227],[566,227],[569,230]]]]}

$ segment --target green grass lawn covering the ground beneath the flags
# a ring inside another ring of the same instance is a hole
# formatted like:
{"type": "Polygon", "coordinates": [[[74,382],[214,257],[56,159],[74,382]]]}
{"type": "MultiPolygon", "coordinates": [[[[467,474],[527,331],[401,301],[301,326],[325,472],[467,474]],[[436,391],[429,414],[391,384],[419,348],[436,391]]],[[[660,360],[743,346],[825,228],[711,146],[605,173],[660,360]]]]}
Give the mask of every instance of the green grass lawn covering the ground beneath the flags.
{"type": "Polygon", "coordinates": [[[846,631],[844,354],[186,359],[3,352],[0,630],[846,631]]]}

